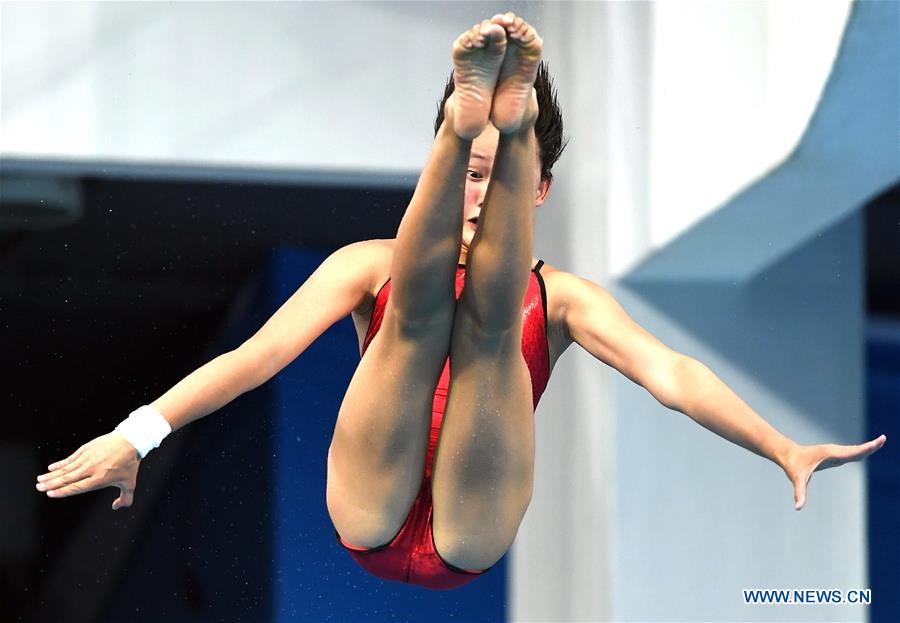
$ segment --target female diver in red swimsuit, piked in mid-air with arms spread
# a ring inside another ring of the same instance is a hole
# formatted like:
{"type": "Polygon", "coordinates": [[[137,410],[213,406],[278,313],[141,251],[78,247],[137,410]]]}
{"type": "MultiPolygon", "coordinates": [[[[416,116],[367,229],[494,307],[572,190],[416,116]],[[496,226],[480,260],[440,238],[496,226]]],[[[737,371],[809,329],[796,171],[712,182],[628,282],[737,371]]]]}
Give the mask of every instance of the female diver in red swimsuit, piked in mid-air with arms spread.
{"type": "Polygon", "coordinates": [[[328,452],[327,506],[341,545],[385,579],[453,588],[509,549],[531,499],[534,409],[572,342],[775,462],[798,510],[814,471],[879,449],[884,436],[793,442],[606,290],[535,260],[533,211],[563,149],[541,50],[512,13],[460,35],[396,239],[335,251],[255,335],[50,465],[38,490],[61,498],[116,486],[113,509],[130,506],[140,460],[162,437],[261,385],[347,314],[363,354],[328,452]]]}

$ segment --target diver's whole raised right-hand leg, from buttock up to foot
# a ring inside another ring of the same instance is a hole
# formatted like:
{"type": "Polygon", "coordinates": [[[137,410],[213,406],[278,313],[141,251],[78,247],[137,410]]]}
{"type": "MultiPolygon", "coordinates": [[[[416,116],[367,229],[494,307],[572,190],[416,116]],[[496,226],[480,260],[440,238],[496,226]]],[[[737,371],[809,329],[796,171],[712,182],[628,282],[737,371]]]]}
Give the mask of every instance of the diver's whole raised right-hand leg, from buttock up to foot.
{"type": "MultiPolygon", "coordinates": [[[[523,118],[511,119],[516,129],[501,133],[469,250],[432,474],[435,545],[442,558],[464,569],[490,567],[506,552],[533,484],[534,410],[522,356],[521,306],[531,269],[536,188],[537,102],[530,85],[541,42],[530,26],[521,28],[519,38],[509,33],[504,63],[518,53],[513,61],[525,68],[513,67],[510,75],[528,83],[528,99],[520,108],[523,118]]],[[[495,108],[503,103],[501,86],[502,76],[495,108]]]]}

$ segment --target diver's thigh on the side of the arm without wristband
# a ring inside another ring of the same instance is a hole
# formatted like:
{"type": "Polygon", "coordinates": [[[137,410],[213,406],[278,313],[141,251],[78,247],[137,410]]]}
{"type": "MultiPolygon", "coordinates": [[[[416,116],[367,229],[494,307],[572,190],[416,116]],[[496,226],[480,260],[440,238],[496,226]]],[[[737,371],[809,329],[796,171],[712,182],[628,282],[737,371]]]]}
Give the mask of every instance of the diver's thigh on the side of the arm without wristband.
{"type": "Polygon", "coordinates": [[[506,552],[531,500],[534,409],[521,321],[485,336],[462,313],[432,475],[434,541],[445,560],[478,569],[506,552]]]}

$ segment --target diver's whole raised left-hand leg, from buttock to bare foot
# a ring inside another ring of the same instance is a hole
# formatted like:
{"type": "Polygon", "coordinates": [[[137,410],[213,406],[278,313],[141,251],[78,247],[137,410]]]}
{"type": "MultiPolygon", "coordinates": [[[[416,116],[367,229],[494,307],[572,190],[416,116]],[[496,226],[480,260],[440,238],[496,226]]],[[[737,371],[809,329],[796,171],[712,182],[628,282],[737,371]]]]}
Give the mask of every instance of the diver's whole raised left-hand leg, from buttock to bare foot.
{"type": "Polygon", "coordinates": [[[381,329],[341,404],[326,500],[335,528],[353,545],[381,545],[396,534],[422,482],[456,305],[471,134],[487,124],[505,43],[503,28],[485,21],[454,44],[460,95],[448,101],[400,223],[381,329]]]}

